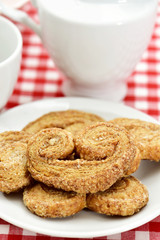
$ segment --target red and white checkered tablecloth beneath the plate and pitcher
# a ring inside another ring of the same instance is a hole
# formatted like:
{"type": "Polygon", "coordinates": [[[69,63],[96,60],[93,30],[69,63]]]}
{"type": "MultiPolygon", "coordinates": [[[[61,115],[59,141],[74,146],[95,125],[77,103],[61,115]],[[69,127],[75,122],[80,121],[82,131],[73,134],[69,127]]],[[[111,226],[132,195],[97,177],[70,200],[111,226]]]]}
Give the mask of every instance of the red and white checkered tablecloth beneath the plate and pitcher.
{"type": "MultiPolygon", "coordinates": [[[[30,3],[23,10],[37,19],[30,3]]],[[[23,36],[23,55],[19,78],[4,110],[45,97],[62,97],[62,76],[43,48],[40,39],[27,27],[17,24],[23,36]]],[[[129,77],[124,103],[160,120],[160,4],[148,49],[129,77]]],[[[0,219],[0,240],[59,240],[16,227],[0,219]]],[[[160,240],[160,216],[125,233],[96,240],[160,240]]]]}

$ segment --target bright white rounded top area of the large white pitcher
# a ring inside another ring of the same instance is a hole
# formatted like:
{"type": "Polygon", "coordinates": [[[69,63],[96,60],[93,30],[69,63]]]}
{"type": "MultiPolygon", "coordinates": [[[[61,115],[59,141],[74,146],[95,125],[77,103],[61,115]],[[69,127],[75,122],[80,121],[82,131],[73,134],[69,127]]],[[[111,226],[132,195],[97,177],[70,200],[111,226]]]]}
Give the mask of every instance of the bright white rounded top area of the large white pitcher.
{"type": "Polygon", "coordinates": [[[81,23],[122,23],[143,16],[155,0],[39,0],[57,17],[81,23]]]}

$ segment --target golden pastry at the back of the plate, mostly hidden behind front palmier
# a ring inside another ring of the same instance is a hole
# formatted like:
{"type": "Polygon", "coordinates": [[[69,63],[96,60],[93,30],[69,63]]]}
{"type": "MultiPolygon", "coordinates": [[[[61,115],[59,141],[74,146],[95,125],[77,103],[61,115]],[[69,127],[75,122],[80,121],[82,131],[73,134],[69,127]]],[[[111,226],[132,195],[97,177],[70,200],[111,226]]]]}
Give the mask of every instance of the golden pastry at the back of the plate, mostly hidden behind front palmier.
{"type": "Polygon", "coordinates": [[[84,126],[100,121],[105,120],[96,114],[78,110],[67,110],[45,114],[35,121],[30,122],[23,130],[29,133],[36,133],[45,128],[57,127],[76,133],[84,126]]]}

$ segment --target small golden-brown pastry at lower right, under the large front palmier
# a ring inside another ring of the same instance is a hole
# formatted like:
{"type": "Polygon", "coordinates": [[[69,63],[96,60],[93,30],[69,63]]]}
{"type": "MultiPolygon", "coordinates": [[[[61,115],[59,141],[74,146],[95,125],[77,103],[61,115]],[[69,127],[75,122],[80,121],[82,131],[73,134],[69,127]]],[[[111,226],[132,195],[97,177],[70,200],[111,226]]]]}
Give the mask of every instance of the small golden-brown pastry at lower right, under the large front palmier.
{"type": "Polygon", "coordinates": [[[118,180],[104,192],[89,194],[87,207],[106,215],[129,216],[144,207],[149,199],[147,188],[135,177],[118,180]]]}

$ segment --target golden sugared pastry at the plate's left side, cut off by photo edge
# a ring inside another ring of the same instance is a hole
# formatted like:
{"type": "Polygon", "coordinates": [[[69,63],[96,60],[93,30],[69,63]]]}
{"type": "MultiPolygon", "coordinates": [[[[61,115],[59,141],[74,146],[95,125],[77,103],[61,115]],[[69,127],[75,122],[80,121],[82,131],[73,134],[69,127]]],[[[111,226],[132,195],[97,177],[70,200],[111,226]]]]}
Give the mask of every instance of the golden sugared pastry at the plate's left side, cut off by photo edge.
{"type": "Polygon", "coordinates": [[[18,191],[31,182],[27,170],[29,134],[8,131],[0,134],[0,191],[18,191]]]}

